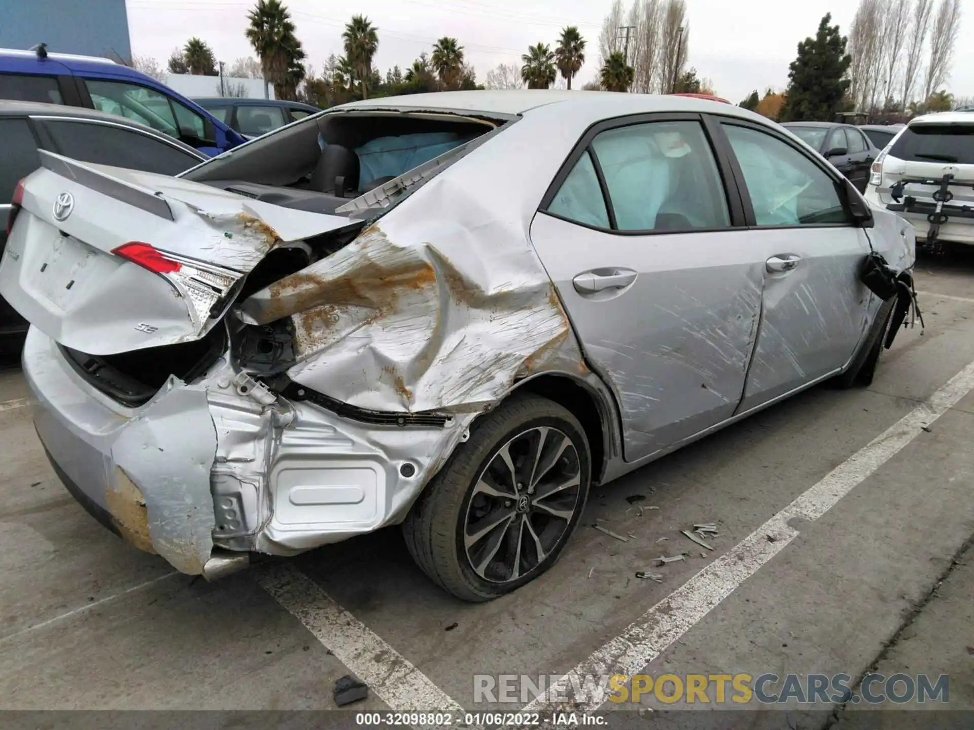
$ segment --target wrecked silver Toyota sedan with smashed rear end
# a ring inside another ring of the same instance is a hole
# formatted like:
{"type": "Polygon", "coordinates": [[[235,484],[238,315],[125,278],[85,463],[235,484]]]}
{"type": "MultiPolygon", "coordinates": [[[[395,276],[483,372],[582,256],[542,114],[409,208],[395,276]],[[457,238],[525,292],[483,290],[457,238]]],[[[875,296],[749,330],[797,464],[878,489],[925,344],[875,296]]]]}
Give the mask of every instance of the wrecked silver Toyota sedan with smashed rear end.
{"type": "Polygon", "coordinates": [[[209,578],[401,524],[468,601],[593,485],[870,382],[915,257],[783,128],[627,93],[370,99],[177,178],[44,153],[11,222],[37,432],[103,524],[209,578]]]}

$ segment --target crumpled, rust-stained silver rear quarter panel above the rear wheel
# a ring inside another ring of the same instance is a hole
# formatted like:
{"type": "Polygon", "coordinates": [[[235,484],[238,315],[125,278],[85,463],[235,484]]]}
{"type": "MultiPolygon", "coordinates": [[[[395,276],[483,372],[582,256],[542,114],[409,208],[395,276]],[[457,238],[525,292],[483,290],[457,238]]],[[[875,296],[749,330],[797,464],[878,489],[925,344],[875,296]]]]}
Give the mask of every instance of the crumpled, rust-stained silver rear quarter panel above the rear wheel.
{"type": "Polygon", "coordinates": [[[291,317],[293,381],[376,411],[480,410],[518,378],[587,372],[518,222],[445,177],[243,312],[291,317]]]}

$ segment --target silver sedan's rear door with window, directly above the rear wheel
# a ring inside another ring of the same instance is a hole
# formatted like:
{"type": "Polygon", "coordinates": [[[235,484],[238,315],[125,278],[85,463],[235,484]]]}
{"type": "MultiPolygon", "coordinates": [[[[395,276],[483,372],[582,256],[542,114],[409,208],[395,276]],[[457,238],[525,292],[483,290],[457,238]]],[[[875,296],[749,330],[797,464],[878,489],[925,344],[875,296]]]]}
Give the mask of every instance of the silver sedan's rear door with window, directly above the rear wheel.
{"type": "Polygon", "coordinates": [[[531,239],[590,367],[610,383],[626,460],[731,417],[765,258],[699,115],[605,122],[566,161],[531,239]]]}

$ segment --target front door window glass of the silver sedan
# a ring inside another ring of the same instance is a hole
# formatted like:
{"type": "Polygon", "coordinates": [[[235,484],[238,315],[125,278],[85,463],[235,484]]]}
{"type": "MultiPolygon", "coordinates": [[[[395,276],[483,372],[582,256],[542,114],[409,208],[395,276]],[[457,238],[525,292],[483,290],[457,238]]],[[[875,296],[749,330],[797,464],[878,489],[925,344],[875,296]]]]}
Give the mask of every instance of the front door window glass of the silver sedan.
{"type": "Polygon", "coordinates": [[[836,183],[821,167],[766,132],[723,126],[744,173],[759,226],[851,222],[836,183]]]}

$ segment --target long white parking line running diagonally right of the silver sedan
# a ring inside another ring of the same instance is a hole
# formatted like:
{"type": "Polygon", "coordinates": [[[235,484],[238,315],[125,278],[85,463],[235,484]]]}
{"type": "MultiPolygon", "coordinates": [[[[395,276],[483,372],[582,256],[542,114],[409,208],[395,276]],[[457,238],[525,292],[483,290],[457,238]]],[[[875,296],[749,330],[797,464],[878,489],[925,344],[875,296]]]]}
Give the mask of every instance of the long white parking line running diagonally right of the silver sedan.
{"type": "Polygon", "coordinates": [[[595,675],[597,678],[601,675],[638,674],[798,536],[799,531],[788,525],[789,520],[811,521],[824,515],[843,496],[913,441],[922,432],[923,426],[940,418],[972,388],[974,362],[916,409],[849,456],[728,553],[656,603],[626,627],[620,636],[596,649],[568,675],[555,682],[553,687],[560,696],[569,698],[568,702],[550,701],[552,687],[548,687],[543,695],[524,708],[524,712],[539,712],[562,705],[569,705],[576,711],[597,710],[608,699],[608,688],[592,687],[586,698],[574,701],[571,699],[573,677],[577,686],[583,686],[585,675],[595,675]]]}

